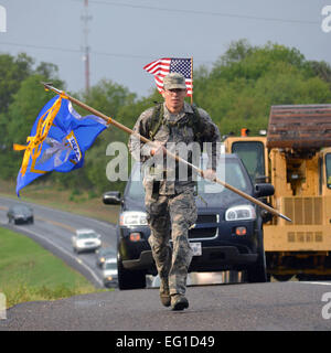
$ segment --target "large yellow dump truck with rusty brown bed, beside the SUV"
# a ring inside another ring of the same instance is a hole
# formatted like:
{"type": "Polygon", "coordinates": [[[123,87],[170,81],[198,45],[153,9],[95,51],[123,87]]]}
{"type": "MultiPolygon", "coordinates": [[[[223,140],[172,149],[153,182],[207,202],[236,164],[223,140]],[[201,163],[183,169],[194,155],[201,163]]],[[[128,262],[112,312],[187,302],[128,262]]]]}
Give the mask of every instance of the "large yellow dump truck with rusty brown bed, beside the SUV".
{"type": "Polygon", "coordinates": [[[228,137],[224,145],[253,182],[275,186],[265,202],[292,220],[266,215],[268,274],[331,279],[331,105],[273,106],[266,137],[228,137]]]}

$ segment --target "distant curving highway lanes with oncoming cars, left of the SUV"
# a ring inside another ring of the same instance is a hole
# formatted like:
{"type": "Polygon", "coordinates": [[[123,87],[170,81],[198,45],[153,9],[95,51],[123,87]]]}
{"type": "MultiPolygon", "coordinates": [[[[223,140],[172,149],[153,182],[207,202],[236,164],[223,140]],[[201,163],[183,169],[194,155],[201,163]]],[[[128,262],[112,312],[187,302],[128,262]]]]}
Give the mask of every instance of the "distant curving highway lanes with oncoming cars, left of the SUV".
{"type": "Polygon", "coordinates": [[[100,269],[96,266],[96,255],[94,253],[75,254],[71,238],[78,228],[93,228],[100,234],[104,247],[116,248],[114,224],[9,197],[0,197],[0,224],[33,238],[82,272],[95,287],[104,287],[100,269]],[[32,206],[34,224],[8,224],[7,211],[12,204],[18,203],[32,206]]]}

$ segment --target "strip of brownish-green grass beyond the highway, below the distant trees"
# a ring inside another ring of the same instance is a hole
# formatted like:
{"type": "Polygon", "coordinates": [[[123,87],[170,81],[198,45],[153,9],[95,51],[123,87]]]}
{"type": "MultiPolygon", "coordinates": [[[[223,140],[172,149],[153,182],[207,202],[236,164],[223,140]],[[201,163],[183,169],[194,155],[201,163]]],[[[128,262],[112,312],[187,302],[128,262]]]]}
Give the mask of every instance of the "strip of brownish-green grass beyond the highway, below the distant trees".
{"type": "MultiPolygon", "coordinates": [[[[18,199],[15,183],[0,180],[0,195],[18,199]]],[[[64,190],[47,183],[35,183],[20,192],[22,201],[72,212],[105,222],[117,223],[119,206],[105,205],[102,195],[78,190],[64,190]]]]}

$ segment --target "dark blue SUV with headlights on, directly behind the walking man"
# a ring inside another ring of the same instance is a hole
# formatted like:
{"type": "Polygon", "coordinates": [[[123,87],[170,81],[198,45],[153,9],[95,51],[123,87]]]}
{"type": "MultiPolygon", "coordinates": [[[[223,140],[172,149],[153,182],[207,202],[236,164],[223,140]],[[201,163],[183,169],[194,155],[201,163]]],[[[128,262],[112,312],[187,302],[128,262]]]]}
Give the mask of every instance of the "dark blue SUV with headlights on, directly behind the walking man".
{"type": "MultiPolygon", "coordinates": [[[[217,176],[236,189],[255,197],[274,193],[270,184],[252,184],[236,154],[224,154],[220,163],[222,175],[217,176]]],[[[197,220],[189,231],[194,254],[189,271],[245,270],[247,281],[266,281],[261,208],[204,179],[197,181],[195,199],[197,220]]],[[[121,205],[116,231],[119,289],[145,288],[146,275],[156,275],[157,270],[148,243],[150,229],[139,163],[132,169],[124,196],[107,192],[104,203],[121,205]]]]}

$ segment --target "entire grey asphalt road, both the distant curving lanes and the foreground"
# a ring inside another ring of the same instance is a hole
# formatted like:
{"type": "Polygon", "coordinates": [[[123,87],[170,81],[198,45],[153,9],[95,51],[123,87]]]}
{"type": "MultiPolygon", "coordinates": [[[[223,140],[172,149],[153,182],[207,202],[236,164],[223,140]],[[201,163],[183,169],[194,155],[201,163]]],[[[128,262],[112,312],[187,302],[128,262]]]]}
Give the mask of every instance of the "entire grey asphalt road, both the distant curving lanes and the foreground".
{"type": "MultiPolygon", "coordinates": [[[[0,222],[6,226],[7,208],[13,202],[0,199],[0,222]]],[[[92,227],[100,233],[105,246],[115,247],[114,225],[39,205],[33,208],[33,225],[10,227],[31,236],[102,287],[95,255],[74,254],[71,236],[76,228],[92,227]]],[[[185,331],[331,330],[331,281],[191,286],[186,293],[190,308],[183,312],[162,307],[156,288],[25,302],[7,310],[0,331],[122,331],[130,338],[129,331],[171,331],[175,335],[185,331]]]]}

